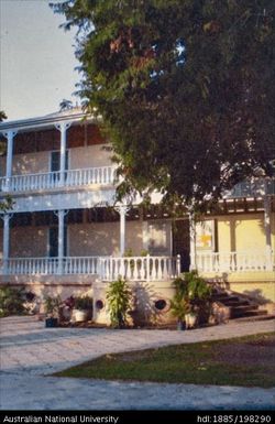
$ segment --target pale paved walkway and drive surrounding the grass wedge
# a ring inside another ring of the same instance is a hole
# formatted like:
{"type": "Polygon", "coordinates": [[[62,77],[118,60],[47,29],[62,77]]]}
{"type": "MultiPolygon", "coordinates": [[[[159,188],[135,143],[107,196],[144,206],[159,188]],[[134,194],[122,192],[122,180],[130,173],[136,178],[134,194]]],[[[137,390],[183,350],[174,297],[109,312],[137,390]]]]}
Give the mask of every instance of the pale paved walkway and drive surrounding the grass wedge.
{"type": "Polygon", "coordinates": [[[0,319],[0,409],[213,410],[275,409],[275,389],[198,387],[46,377],[108,352],[272,331],[274,320],[188,331],[45,328],[35,317],[0,319]]]}

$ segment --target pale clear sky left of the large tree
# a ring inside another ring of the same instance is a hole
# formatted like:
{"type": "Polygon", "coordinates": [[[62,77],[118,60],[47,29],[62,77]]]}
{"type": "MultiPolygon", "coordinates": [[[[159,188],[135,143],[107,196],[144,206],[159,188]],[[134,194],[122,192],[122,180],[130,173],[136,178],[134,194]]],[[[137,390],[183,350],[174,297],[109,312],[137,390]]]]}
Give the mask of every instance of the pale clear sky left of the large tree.
{"type": "Polygon", "coordinates": [[[58,28],[65,19],[48,3],[0,0],[0,110],[8,120],[55,112],[63,99],[77,101],[75,31],[58,28]]]}

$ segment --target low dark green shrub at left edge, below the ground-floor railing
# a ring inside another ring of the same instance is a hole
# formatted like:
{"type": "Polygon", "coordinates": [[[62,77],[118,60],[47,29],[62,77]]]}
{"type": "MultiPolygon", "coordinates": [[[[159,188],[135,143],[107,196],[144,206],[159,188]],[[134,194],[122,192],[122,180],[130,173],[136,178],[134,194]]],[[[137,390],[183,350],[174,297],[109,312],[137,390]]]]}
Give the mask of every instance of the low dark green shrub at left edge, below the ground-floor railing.
{"type": "Polygon", "coordinates": [[[23,314],[25,295],[23,289],[8,285],[0,287],[0,317],[23,314]]]}

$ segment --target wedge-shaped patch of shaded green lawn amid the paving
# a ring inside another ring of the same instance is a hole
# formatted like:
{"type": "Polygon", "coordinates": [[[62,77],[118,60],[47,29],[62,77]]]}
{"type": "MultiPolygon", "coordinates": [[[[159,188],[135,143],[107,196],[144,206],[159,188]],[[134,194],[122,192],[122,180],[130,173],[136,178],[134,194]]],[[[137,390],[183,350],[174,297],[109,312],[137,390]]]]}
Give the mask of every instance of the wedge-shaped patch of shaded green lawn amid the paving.
{"type": "Polygon", "coordinates": [[[275,387],[275,333],[105,355],[57,377],[275,387]]]}

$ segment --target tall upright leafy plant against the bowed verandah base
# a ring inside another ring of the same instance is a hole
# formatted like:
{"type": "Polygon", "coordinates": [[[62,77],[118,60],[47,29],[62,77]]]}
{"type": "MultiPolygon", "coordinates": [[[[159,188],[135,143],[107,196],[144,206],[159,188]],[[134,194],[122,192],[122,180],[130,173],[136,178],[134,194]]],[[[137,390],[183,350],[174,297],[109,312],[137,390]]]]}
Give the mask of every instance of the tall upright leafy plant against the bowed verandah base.
{"type": "Polygon", "coordinates": [[[127,314],[130,309],[132,297],[128,283],[121,278],[113,281],[110,283],[106,297],[112,327],[123,328],[127,325],[127,314]]]}

